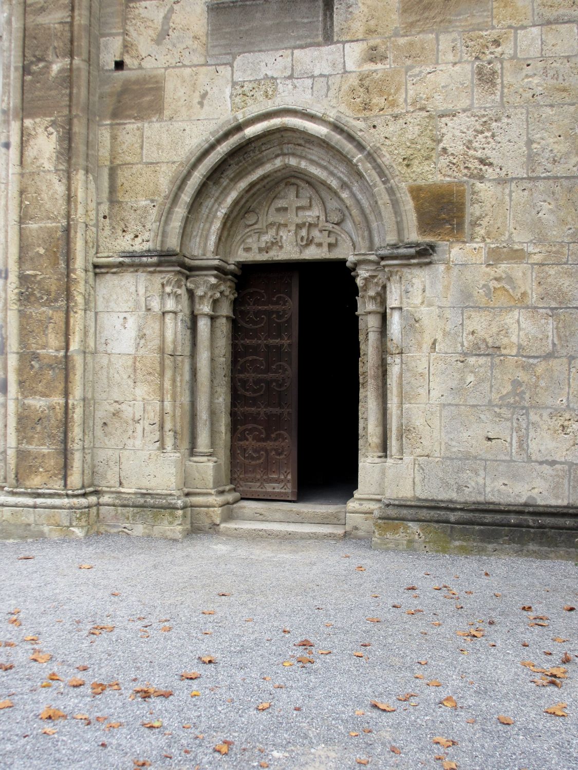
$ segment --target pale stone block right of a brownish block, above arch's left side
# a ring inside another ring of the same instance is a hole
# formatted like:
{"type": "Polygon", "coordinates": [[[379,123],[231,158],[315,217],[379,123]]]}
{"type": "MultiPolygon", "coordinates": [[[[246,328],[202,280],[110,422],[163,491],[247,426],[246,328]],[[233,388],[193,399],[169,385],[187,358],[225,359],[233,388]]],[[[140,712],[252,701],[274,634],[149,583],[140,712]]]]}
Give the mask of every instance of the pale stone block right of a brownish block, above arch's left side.
{"type": "Polygon", "coordinates": [[[166,71],[165,120],[223,118],[230,110],[230,67],[166,71]]]}

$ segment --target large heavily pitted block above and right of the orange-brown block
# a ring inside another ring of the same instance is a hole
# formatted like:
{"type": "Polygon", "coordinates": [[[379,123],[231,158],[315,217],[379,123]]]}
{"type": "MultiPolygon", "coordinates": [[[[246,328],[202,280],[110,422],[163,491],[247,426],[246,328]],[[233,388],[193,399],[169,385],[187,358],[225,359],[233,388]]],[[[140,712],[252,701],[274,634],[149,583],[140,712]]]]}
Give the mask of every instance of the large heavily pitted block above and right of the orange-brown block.
{"type": "Polygon", "coordinates": [[[523,176],[525,111],[473,110],[442,115],[438,152],[439,173],[449,179],[523,176]]]}

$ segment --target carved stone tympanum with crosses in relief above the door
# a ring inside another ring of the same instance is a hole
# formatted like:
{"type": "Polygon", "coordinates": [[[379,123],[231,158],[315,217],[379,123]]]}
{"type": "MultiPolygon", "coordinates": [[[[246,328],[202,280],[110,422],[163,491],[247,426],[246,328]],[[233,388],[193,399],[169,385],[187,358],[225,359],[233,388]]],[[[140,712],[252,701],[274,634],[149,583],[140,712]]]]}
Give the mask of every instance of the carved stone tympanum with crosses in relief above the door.
{"type": "Polygon", "coordinates": [[[318,190],[303,179],[287,179],[247,209],[234,237],[237,259],[319,258],[353,251],[340,227],[344,211],[326,208],[318,190]]]}

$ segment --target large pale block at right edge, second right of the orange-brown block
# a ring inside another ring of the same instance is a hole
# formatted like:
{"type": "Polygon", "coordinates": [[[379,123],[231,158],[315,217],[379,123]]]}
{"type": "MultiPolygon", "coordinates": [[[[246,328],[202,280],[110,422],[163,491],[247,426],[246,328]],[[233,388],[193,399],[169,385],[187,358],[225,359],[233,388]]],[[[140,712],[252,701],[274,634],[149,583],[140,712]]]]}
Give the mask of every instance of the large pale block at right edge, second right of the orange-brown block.
{"type": "Polygon", "coordinates": [[[512,182],[511,233],[516,241],[576,240],[578,187],[570,179],[512,182]]]}

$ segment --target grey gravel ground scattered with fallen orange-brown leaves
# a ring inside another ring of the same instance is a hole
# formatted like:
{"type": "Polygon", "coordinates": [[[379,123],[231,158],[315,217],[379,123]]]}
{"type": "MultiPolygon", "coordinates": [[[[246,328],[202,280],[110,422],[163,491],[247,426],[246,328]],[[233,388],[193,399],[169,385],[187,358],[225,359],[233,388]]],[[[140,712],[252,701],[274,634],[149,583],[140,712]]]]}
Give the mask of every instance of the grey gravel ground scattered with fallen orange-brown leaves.
{"type": "Polygon", "coordinates": [[[459,770],[578,767],[578,611],[563,609],[578,602],[568,562],[371,551],[368,541],[106,535],[2,543],[0,575],[0,663],[13,665],[0,671],[0,701],[13,704],[0,709],[2,768],[128,770],[146,760],[191,770],[341,770],[368,759],[370,770],[442,770],[436,755],[459,770]],[[8,622],[15,608],[19,627],[8,622]],[[546,625],[531,626],[533,614],[546,625]],[[89,634],[94,625],[114,630],[89,634]],[[456,634],[477,628],[481,638],[456,634]],[[294,646],[304,638],[314,663],[297,661],[307,654],[294,646]],[[52,658],[31,661],[35,648],[52,658]],[[560,666],[565,651],[572,659],[561,688],[533,685],[540,675],[520,665],[560,666]],[[217,662],[203,664],[203,655],[217,662]],[[42,687],[52,671],[63,681],[42,687]],[[201,676],[181,681],[182,671],[201,676]],[[86,684],[69,687],[73,676],[86,684]],[[92,695],[92,681],[120,689],[92,695]],[[146,683],[173,695],[129,698],[146,683]],[[405,693],[413,695],[399,700],[405,693]],[[440,705],[448,695],[456,708],[440,705]],[[544,713],[560,701],[567,717],[544,713]],[[271,707],[257,711],[262,702],[271,707]],[[47,705],[66,721],[42,721],[47,705]],[[142,725],[156,720],[161,727],[142,725]],[[107,729],[111,722],[121,724],[107,729]],[[444,749],[435,736],[458,745],[444,749]],[[213,750],[223,740],[232,742],[224,756],[213,750]]]}

